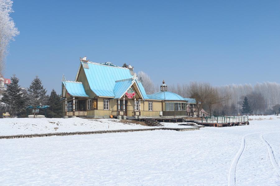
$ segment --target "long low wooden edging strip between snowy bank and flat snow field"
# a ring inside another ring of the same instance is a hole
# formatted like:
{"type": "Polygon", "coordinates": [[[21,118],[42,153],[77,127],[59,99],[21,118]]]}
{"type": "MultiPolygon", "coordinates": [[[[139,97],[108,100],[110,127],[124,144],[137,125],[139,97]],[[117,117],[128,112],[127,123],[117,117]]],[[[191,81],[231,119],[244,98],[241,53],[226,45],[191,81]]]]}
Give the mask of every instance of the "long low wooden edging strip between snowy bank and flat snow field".
{"type": "Polygon", "coordinates": [[[35,138],[35,137],[67,136],[67,135],[88,135],[88,134],[106,134],[106,133],[118,133],[118,132],[137,132],[137,131],[155,131],[155,130],[194,131],[194,130],[199,130],[199,128],[200,127],[192,127],[192,128],[148,128],[148,129],[126,129],[126,130],[111,130],[111,131],[58,132],[58,133],[46,133],[46,134],[6,135],[6,136],[0,136],[0,139],[35,138]]]}

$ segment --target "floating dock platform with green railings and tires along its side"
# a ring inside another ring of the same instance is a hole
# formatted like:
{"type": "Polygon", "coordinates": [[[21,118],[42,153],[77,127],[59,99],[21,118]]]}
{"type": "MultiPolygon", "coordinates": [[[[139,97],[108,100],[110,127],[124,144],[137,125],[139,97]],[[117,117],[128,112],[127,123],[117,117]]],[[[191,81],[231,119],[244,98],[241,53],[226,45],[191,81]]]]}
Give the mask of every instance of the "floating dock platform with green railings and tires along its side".
{"type": "Polygon", "coordinates": [[[201,117],[201,122],[198,124],[215,127],[249,125],[249,118],[248,116],[205,116],[201,117]]]}

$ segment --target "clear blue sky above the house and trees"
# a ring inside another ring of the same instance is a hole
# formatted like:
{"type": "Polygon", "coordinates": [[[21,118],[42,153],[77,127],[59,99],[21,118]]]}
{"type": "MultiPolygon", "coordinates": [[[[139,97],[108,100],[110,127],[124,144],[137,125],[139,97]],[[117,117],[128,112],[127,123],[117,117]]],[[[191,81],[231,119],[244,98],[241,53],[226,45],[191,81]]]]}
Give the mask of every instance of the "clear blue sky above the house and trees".
{"type": "Polygon", "coordinates": [[[85,55],[131,64],[158,85],[280,83],[280,1],[14,0],[13,9],[21,33],[4,74],[21,86],[39,75],[60,93],[85,55]]]}

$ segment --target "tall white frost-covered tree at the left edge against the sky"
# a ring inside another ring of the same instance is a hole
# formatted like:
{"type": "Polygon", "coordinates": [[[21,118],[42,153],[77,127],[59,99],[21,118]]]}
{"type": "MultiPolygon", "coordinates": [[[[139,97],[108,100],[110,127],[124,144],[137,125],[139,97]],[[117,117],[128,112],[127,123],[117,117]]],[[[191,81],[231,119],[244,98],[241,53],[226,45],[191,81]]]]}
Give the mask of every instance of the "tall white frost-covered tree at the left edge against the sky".
{"type": "Polygon", "coordinates": [[[13,12],[12,4],[11,0],[0,0],[0,73],[4,70],[9,43],[19,34],[14,21],[10,17],[13,12]]]}

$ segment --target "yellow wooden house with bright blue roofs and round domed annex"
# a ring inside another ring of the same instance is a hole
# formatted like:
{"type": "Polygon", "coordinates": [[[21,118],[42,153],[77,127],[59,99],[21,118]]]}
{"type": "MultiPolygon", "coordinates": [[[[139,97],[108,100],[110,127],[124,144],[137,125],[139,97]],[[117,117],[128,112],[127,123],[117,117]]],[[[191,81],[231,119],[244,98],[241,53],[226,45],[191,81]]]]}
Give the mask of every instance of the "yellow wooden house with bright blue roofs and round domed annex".
{"type": "Polygon", "coordinates": [[[187,117],[197,115],[195,100],[167,91],[147,95],[133,67],[80,59],[74,81],[62,79],[63,115],[66,117],[141,116],[187,117]]]}

